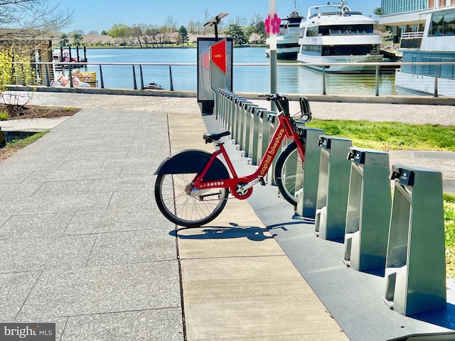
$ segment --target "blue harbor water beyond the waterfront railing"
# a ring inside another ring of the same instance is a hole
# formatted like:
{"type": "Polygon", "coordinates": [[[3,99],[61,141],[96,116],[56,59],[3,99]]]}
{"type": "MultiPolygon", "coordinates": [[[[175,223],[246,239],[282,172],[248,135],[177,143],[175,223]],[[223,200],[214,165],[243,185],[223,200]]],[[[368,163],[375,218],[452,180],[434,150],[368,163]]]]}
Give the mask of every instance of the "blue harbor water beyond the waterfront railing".
{"type": "MultiPolygon", "coordinates": [[[[89,63],[191,63],[195,65],[172,65],[174,90],[196,91],[196,48],[87,48],[89,63]]],[[[232,87],[234,92],[269,92],[269,58],[264,48],[234,48],[233,63],[265,63],[267,66],[234,65],[232,87]]],[[[294,61],[289,66],[277,67],[277,90],[282,93],[322,94],[322,72],[294,61]]],[[[144,85],[156,82],[165,89],[171,88],[167,65],[143,65],[144,85]]],[[[100,67],[88,65],[87,71],[97,72],[100,86],[100,67]]],[[[135,66],[137,87],[141,86],[139,65],[135,66]]],[[[107,88],[134,88],[132,65],[102,65],[104,85],[107,88]]],[[[375,75],[326,75],[327,94],[375,94],[375,75]]],[[[381,74],[379,93],[396,94],[395,74],[381,74]]]]}

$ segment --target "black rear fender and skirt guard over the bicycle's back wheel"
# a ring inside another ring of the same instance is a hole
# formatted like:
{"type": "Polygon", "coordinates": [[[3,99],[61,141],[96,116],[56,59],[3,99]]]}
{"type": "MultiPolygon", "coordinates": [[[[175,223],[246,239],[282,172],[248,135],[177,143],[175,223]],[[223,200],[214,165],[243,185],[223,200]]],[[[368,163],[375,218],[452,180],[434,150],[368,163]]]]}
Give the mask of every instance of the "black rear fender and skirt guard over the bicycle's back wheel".
{"type": "MultiPolygon", "coordinates": [[[[211,153],[198,149],[179,151],[166,158],[156,170],[155,175],[200,173],[210,160],[211,153]]],[[[204,181],[223,180],[229,178],[229,172],[219,158],[215,158],[212,166],[205,174],[204,181]]]]}

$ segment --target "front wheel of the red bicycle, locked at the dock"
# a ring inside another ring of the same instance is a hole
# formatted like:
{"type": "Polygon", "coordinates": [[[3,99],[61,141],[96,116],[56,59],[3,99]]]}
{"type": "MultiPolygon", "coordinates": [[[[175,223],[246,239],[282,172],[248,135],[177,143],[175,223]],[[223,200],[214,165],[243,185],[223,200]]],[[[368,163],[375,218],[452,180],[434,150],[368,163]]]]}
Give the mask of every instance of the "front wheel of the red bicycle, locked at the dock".
{"type": "Polygon", "coordinates": [[[279,154],[274,171],[275,183],[279,192],[291,205],[297,205],[297,191],[303,188],[304,161],[299,156],[293,141],[279,154]]]}

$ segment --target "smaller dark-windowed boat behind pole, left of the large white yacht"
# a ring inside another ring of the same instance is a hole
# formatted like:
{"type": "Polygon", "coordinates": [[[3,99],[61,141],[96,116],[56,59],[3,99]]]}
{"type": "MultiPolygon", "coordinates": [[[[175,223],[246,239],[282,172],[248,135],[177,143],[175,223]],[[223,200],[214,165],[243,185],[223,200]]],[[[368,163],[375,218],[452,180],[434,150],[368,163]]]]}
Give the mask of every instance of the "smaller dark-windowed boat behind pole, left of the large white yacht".
{"type": "MultiPolygon", "coordinates": [[[[289,13],[287,18],[282,19],[279,26],[279,35],[277,36],[277,58],[296,60],[299,53],[299,27],[304,17],[296,9],[294,1],[294,11],[289,13]]],[[[270,56],[269,38],[265,40],[265,53],[270,56]]]]}

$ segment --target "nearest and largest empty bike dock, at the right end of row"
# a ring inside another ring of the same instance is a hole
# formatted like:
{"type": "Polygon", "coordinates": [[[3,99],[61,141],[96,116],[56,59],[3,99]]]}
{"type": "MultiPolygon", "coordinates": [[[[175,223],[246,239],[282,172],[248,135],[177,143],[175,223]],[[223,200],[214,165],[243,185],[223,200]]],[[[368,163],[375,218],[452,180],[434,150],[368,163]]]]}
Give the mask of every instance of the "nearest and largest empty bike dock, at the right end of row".
{"type": "Polygon", "coordinates": [[[403,315],[446,306],[442,174],[394,165],[384,301],[403,315]]]}

